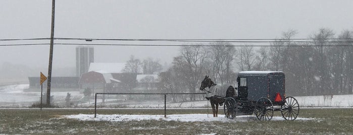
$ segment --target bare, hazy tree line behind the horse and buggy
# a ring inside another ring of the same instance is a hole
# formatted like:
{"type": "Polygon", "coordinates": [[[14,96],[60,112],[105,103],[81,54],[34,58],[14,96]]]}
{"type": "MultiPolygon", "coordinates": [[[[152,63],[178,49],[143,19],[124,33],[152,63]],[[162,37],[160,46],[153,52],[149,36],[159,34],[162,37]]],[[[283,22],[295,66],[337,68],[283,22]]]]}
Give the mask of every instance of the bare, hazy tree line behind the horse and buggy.
{"type": "MultiPolygon", "coordinates": [[[[290,96],[352,94],[352,33],[343,30],[335,35],[331,29],[321,28],[309,36],[311,42],[300,43],[292,42],[297,31],[288,30],[269,46],[262,47],[232,46],[230,42],[188,44],[180,47],[179,55],[163,72],[161,64],[151,59],[133,62],[134,58],[130,58],[127,66],[142,63],[143,73],[158,73],[158,89],[168,93],[200,92],[200,82],[206,75],[217,84],[236,86],[240,71],[281,71],[285,73],[286,94],[290,96]],[[338,39],[343,42],[332,42],[338,39]]],[[[198,98],[175,96],[173,100],[198,98]]]]}

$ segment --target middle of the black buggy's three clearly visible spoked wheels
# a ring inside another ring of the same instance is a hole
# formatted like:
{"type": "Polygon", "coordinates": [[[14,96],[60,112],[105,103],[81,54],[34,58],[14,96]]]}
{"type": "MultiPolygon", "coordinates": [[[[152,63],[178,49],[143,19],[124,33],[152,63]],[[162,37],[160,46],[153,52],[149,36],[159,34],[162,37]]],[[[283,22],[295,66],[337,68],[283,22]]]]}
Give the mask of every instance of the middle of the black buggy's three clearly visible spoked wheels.
{"type": "Polygon", "coordinates": [[[262,97],[255,105],[255,115],[260,121],[269,121],[273,117],[273,104],[270,99],[262,97]]]}

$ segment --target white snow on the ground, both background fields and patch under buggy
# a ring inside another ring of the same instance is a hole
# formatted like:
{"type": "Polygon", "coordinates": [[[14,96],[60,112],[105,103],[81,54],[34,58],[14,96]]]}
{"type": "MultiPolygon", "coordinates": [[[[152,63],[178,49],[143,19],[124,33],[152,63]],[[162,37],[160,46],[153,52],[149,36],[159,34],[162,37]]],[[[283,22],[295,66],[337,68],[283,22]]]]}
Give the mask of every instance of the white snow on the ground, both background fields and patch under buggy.
{"type": "MultiPolygon", "coordinates": [[[[28,107],[31,104],[38,102],[40,100],[40,92],[28,92],[25,89],[28,85],[12,85],[0,87],[0,107],[28,107]]],[[[56,100],[65,101],[65,97],[68,92],[52,92],[56,100]]],[[[83,98],[83,94],[78,91],[69,92],[72,98],[75,100],[82,100],[78,107],[87,107],[87,105],[92,105],[93,99],[87,100],[83,98]]],[[[333,95],[333,96],[307,96],[307,97],[295,97],[300,104],[300,107],[353,107],[353,95],[333,95]]],[[[164,99],[164,98],[163,98],[164,99]]],[[[161,101],[142,101],[142,102],[130,102],[125,101],[125,99],[119,99],[122,102],[121,105],[127,108],[163,108],[163,99],[161,101]],[[122,100],[122,101],[121,101],[122,100]],[[157,102],[157,103],[156,103],[157,102]]],[[[111,102],[117,102],[117,99],[110,99],[111,102]]],[[[102,99],[98,102],[102,104],[102,99]],[[100,102],[99,102],[100,101],[100,102]]],[[[109,100],[107,100],[109,101],[109,100]]],[[[58,102],[58,101],[56,101],[58,102]]],[[[197,102],[184,102],[184,103],[167,103],[167,108],[205,108],[207,107],[207,101],[197,101],[197,102]]],[[[63,109],[63,108],[58,108],[63,109]]],[[[222,109],[222,108],[221,108],[222,109]]],[[[99,113],[99,112],[98,112],[99,113]]],[[[141,121],[141,120],[158,120],[158,121],[180,121],[180,122],[247,122],[247,121],[258,121],[255,115],[242,115],[237,116],[234,119],[225,118],[224,115],[219,115],[218,117],[213,117],[210,114],[170,114],[167,117],[164,115],[127,115],[127,114],[97,114],[94,117],[93,114],[77,114],[77,115],[62,115],[59,119],[77,119],[80,121],[141,121]]],[[[272,121],[285,120],[281,116],[274,116],[272,121]]],[[[296,118],[296,121],[312,122],[317,121],[316,118],[296,118]]],[[[211,133],[212,134],[212,133],[211,133]]]]}

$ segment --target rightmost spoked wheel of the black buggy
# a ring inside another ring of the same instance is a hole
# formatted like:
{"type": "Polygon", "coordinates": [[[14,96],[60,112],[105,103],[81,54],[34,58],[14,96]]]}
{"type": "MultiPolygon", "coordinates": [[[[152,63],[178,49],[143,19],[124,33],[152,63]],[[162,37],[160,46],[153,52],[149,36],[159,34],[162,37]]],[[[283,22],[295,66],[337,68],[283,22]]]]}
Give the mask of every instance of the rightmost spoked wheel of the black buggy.
{"type": "Polygon", "coordinates": [[[281,113],[284,119],[294,120],[299,114],[299,104],[293,97],[286,97],[284,105],[281,106],[281,113]]]}

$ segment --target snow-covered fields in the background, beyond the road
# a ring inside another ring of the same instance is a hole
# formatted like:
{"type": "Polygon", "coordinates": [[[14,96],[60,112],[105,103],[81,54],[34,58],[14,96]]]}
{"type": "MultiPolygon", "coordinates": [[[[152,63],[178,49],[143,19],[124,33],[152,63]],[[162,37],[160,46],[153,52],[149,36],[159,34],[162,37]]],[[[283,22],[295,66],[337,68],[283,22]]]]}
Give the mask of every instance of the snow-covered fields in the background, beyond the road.
{"type": "MultiPolygon", "coordinates": [[[[39,103],[40,92],[27,92],[25,89],[29,87],[28,84],[24,85],[10,85],[0,87],[0,107],[29,107],[33,103],[39,103]]],[[[93,98],[84,99],[83,93],[79,91],[70,92],[52,92],[54,102],[65,102],[67,93],[71,94],[72,100],[79,103],[78,107],[91,106],[94,103],[93,98]]],[[[298,100],[300,107],[353,107],[353,95],[330,95],[330,96],[301,96],[294,97],[298,100]]],[[[97,100],[102,102],[102,100],[97,100]]],[[[207,107],[208,102],[183,102],[183,103],[168,103],[168,108],[195,108],[207,107]]],[[[121,102],[121,106],[131,108],[162,108],[164,107],[163,99],[160,102],[143,101],[143,102],[121,102]]]]}

